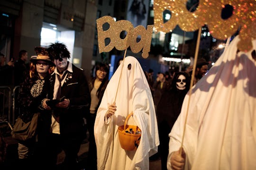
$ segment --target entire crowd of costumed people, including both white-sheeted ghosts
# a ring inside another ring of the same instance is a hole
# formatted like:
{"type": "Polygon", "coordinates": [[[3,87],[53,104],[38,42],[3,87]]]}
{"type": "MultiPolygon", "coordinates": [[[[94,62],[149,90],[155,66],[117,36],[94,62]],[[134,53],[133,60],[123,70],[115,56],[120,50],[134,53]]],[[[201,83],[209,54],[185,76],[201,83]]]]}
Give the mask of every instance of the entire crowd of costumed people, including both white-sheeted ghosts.
{"type": "Polygon", "coordinates": [[[154,78],[153,69],[144,71],[128,56],[110,80],[109,66],[97,63],[88,81],[59,42],[36,47],[27,71],[27,51],[7,64],[1,53],[1,74],[23,70],[14,81],[20,85],[18,118],[24,124],[37,118],[35,135],[18,139],[18,167],[79,170],[86,119],[90,170],[148,170],[154,155],[161,158],[162,170],[255,169],[255,50],[238,51],[238,41],[233,40],[209,72],[209,63],[198,59],[194,77],[188,67],[154,78]],[[192,94],[187,95],[190,84],[192,94]],[[133,150],[120,144],[119,130],[127,118],[128,126],[139,128],[136,133],[124,129],[140,135],[131,143],[133,150]],[[64,162],[57,164],[62,151],[64,162]]]}

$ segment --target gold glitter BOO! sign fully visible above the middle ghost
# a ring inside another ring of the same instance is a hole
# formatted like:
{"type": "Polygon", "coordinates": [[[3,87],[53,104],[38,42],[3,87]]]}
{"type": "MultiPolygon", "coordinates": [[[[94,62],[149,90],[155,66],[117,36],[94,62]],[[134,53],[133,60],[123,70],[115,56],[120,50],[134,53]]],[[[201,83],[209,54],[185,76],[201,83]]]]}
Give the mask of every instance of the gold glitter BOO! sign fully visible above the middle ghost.
{"type": "Polygon", "coordinates": [[[142,50],[142,57],[147,58],[150,51],[150,44],[153,32],[153,25],[133,27],[132,23],[127,20],[115,20],[110,16],[104,16],[96,20],[98,31],[99,52],[109,52],[114,47],[117,50],[126,50],[129,46],[131,51],[137,53],[142,50]],[[109,29],[103,30],[103,25],[109,24],[109,29]],[[120,38],[122,31],[126,31],[127,35],[124,39],[120,38]],[[140,41],[137,42],[137,37],[140,35],[140,41]],[[105,44],[105,39],[109,38],[110,43],[105,44]]]}

